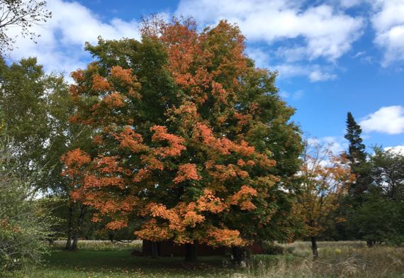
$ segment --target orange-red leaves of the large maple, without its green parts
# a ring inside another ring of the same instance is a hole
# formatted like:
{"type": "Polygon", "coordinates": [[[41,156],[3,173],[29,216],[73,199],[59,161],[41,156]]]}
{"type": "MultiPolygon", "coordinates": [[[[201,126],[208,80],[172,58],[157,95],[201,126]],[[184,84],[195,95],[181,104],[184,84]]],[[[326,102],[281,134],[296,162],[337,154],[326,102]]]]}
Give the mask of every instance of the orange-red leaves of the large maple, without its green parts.
{"type": "Polygon", "coordinates": [[[241,229],[226,228],[222,216],[256,208],[253,201],[259,204],[255,200],[265,198],[265,187],[277,181],[266,171],[275,161],[266,155],[269,152],[256,150],[241,133],[249,127],[253,114],[259,113],[259,105],[250,105],[244,113],[235,109],[243,89],[240,80],[250,70],[243,53],[245,38],[225,21],[203,33],[196,30],[191,20],[142,29],[167,51],[164,70],[178,89],[177,99],[164,104],[161,115],[166,118],[158,121],[143,116],[145,111],[136,111],[138,104],[130,96],[142,99],[140,83],[131,69],[113,66],[101,76],[96,72],[105,71],[94,63],[85,71],[72,73],[77,82],[70,87],[74,101],[81,104],[82,96],[99,100],[87,110],[79,105],[82,110],[71,118],[98,128],[93,141],[99,156],[91,159],[81,150],[68,152],[62,157],[67,167],[64,174],[75,177],[72,198],[96,209],[93,221],[102,216],[112,219],[108,229],[126,227],[129,216],[137,215],[147,219],[135,232],[138,238],[242,246],[248,241],[240,235],[241,229]],[[117,109],[125,105],[125,109],[117,109]],[[206,117],[206,111],[214,115],[206,117]],[[191,162],[205,162],[205,167],[197,169],[191,162]],[[195,191],[203,194],[181,195],[176,203],[166,202],[164,198],[171,201],[189,189],[191,183],[186,181],[198,181],[195,191]],[[181,182],[184,184],[173,186],[181,182]],[[253,187],[260,188],[260,194],[253,187]],[[211,221],[213,214],[217,221],[211,221]]]}

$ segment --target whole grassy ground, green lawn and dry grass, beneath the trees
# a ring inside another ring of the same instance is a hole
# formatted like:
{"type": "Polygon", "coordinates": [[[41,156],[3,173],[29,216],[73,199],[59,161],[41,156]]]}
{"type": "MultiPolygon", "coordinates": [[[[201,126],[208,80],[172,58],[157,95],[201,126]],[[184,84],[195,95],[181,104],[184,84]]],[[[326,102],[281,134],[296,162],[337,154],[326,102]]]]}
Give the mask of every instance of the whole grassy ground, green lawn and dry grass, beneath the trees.
{"type": "Polygon", "coordinates": [[[292,243],[284,245],[284,255],[253,255],[249,265],[238,267],[225,256],[199,257],[190,265],[182,257],[130,255],[132,248],[141,248],[139,242],[82,241],[76,252],[60,247],[62,243],[55,243],[45,265],[26,277],[404,277],[404,248],[369,249],[361,242],[320,242],[315,262],[309,243],[292,243]]]}

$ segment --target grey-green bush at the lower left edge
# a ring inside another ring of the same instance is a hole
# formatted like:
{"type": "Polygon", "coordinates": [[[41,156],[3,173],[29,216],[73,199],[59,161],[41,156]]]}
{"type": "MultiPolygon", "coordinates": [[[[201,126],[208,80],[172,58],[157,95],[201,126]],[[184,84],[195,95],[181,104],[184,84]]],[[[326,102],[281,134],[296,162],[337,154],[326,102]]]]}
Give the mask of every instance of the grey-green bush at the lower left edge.
{"type": "Polygon", "coordinates": [[[11,142],[0,140],[0,276],[40,262],[53,221],[33,199],[29,180],[16,172],[11,142]]]}

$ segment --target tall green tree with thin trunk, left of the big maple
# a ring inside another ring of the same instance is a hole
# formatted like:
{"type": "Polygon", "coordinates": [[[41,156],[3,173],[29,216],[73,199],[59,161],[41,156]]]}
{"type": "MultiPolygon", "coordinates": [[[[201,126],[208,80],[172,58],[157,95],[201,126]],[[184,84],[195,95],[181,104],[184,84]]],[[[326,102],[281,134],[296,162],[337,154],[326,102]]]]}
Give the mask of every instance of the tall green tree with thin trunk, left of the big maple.
{"type": "Polygon", "coordinates": [[[68,85],[61,76],[45,74],[35,58],[11,65],[1,59],[0,84],[1,123],[15,143],[15,167],[34,191],[67,201],[67,249],[75,249],[86,208],[70,199],[60,157],[71,148],[89,150],[91,130],[69,122],[74,104],[68,85]]]}

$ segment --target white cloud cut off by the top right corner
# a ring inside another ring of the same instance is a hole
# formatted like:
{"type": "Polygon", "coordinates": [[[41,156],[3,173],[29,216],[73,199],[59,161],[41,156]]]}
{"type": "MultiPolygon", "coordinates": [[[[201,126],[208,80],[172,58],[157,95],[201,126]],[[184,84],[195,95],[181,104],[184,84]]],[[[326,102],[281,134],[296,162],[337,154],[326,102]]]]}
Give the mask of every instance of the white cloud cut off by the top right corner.
{"type": "Polygon", "coordinates": [[[375,43],[384,50],[383,66],[404,60],[404,0],[374,0],[375,43]]]}

